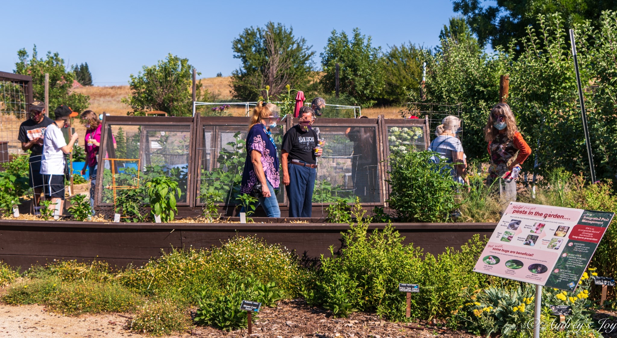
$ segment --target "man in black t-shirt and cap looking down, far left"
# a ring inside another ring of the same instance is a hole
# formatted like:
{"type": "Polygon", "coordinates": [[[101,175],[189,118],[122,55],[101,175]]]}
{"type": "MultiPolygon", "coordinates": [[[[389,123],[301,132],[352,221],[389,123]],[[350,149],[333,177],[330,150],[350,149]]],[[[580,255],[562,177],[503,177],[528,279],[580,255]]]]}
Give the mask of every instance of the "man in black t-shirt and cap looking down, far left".
{"type": "Polygon", "coordinates": [[[41,194],[43,193],[43,175],[41,175],[41,155],[43,154],[43,138],[47,126],[54,123],[45,116],[45,104],[34,101],[30,104],[30,118],[19,126],[17,139],[22,142],[22,150],[30,149],[30,187],[35,191],[35,215],[40,215],[41,194]]]}

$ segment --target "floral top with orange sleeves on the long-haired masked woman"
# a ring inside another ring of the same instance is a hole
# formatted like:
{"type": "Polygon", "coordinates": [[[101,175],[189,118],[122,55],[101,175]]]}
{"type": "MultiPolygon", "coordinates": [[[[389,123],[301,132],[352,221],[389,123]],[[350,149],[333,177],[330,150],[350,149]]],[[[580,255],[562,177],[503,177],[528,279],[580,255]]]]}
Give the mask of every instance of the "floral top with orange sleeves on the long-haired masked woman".
{"type": "Polygon", "coordinates": [[[489,155],[491,155],[491,178],[502,176],[508,171],[508,162],[516,155],[516,162],[523,162],[531,155],[531,148],[523,139],[521,133],[516,132],[514,139],[508,139],[506,134],[497,134],[492,142],[489,142],[489,155]]]}

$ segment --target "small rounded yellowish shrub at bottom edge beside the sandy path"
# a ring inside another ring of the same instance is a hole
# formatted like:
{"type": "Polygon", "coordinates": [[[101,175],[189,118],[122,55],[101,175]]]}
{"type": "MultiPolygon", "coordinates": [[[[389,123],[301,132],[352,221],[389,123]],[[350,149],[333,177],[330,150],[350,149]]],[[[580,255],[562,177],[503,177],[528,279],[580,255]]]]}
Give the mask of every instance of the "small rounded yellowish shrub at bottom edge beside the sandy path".
{"type": "Polygon", "coordinates": [[[127,321],[125,328],[153,336],[184,332],[191,323],[186,312],[178,303],[170,300],[149,300],[137,308],[137,313],[127,321]]]}

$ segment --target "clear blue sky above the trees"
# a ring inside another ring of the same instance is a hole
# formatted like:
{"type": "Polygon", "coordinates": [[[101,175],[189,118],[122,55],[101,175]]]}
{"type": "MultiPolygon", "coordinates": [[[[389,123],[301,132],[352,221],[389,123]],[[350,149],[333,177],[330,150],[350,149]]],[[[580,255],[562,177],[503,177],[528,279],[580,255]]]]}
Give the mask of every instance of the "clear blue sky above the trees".
{"type": "Polygon", "coordinates": [[[128,81],[143,65],[168,52],[187,57],[202,73],[230,75],[239,67],[231,41],[246,27],[268,21],[294,28],[317,52],[331,31],[359,27],[373,44],[439,44],[439,31],[455,15],[449,0],[431,1],[7,1],[2,12],[19,19],[5,34],[0,70],[12,72],[17,50],[36,44],[39,56],[59,52],[70,64],[88,62],[95,85],[128,81]],[[294,5],[295,3],[295,5],[294,5]],[[22,17],[24,10],[35,17],[22,17]]]}

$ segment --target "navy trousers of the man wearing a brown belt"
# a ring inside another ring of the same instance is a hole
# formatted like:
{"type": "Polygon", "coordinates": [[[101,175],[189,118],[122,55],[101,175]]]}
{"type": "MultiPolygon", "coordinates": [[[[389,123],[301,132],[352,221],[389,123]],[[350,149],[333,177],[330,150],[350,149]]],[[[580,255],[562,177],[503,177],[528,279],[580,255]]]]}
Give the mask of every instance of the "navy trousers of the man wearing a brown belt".
{"type": "Polygon", "coordinates": [[[288,164],[289,217],[310,217],[313,211],[313,188],[315,188],[316,168],[288,164]]]}

